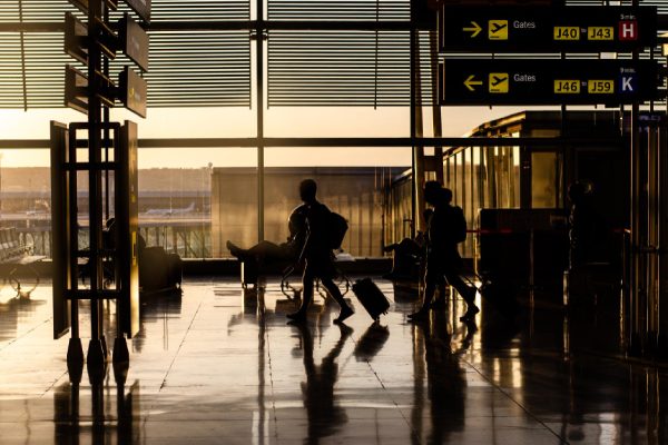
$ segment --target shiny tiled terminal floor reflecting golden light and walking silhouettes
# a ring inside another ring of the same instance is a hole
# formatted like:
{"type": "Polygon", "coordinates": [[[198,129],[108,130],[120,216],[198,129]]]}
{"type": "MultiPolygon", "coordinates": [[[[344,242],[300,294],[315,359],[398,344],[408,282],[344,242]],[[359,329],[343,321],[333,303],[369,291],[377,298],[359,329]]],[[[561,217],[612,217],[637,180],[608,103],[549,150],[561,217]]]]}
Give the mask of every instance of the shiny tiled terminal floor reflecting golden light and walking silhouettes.
{"type": "Polygon", "coordinates": [[[68,338],[51,339],[50,287],[4,288],[0,444],[667,443],[666,376],[601,354],[615,354],[613,315],[536,305],[513,325],[483,301],[466,325],[454,298],[411,325],[414,291],[376,281],[392,303],[380,325],[350,293],[346,326],[322,298],[289,326],[277,280],[259,295],[188,280],[144,301],[127,378],[109,366],[95,383],[86,369],[71,382],[68,338]]]}

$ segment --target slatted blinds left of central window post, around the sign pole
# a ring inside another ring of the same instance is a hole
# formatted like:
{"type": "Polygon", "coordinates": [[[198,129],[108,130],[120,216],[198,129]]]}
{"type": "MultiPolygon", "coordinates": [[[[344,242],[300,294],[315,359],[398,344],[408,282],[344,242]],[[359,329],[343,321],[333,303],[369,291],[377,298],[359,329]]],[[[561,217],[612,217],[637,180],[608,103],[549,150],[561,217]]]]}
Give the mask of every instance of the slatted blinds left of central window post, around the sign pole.
{"type": "MultiPolygon", "coordinates": [[[[111,21],[129,11],[124,1],[111,21]]],[[[22,0],[23,22],[63,21],[65,12],[86,20],[67,0],[22,0]]],[[[151,22],[249,20],[249,1],[154,0],[151,22]]],[[[0,22],[18,23],[19,2],[0,0],[0,22]]],[[[150,36],[149,107],[250,106],[250,41],[248,31],[158,32],[150,36]]],[[[63,53],[63,36],[23,32],[26,39],[27,101],[23,96],[20,34],[0,34],[0,108],[59,108],[63,106],[65,66],[86,67],[63,53]]],[[[124,56],[110,63],[118,79],[124,56]]]]}

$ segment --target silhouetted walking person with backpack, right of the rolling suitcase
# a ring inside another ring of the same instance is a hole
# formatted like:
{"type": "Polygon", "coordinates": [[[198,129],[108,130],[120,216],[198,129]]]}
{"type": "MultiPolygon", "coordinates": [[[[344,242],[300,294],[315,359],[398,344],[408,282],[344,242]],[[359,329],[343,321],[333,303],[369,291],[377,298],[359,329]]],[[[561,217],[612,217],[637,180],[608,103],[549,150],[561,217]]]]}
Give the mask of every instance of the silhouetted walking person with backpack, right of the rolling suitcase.
{"type": "Polygon", "coordinates": [[[416,322],[426,318],[436,288],[445,285],[445,280],[466,301],[466,313],[460,317],[462,322],[473,319],[480,312],[475,306],[475,288],[468,286],[461,278],[462,257],[456,245],[466,239],[466,220],[462,209],[452,206],[452,190],[441,187],[438,181],[424,185],[424,200],[431,204],[434,211],[428,221],[426,271],[424,275],[424,298],[422,307],[409,315],[416,322]]]}

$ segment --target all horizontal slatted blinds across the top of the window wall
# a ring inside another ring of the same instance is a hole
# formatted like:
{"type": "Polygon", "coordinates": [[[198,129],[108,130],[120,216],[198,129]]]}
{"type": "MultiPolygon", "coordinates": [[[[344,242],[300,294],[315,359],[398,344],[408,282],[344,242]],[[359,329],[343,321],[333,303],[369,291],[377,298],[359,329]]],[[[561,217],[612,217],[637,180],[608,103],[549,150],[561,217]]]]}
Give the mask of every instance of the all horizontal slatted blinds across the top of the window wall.
{"type": "MultiPolygon", "coordinates": [[[[250,1],[153,1],[151,23],[158,27],[166,23],[191,26],[188,32],[149,32],[150,71],[146,79],[150,107],[250,106],[248,32],[207,32],[197,24],[200,21],[249,20],[250,1]]],[[[119,3],[119,11],[111,13],[112,20],[129,11],[124,1],[119,3]]],[[[572,0],[568,3],[601,6],[603,2],[572,0]]],[[[65,11],[82,18],[68,0],[21,0],[21,4],[24,22],[60,23],[65,11]]],[[[659,11],[668,13],[668,0],[641,1],[641,4],[657,4],[659,11]]],[[[18,23],[21,19],[18,6],[17,0],[0,0],[0,22],[18,23]]],[[[410,0],[267,0],[267,18],[277,21],[407,22],[410,0]]],[[[0,34],[0,107],[61,107],[63,67],[78,63],[62,53],[61,34],[24,32],[23,36],[28,100],[23,100],[19,33],[0,34]]],[[[267,47],[271,106],[376,107],[407,106],[410,102],[410,44],[405,31],[274,30],[269,32],[267,47]]],[[[620,58],[626,57],[620,55],[620,58]]],[[[641,53],[641,58],[648,57],[648,51],[641,53]]],[[[131,63],[124,57],[111,63],[112,78],[122,65],[131,63]]],[[[429,105],[432,99],[426,33],[421,33],[421,73],[423,102],[429,105]]]]}

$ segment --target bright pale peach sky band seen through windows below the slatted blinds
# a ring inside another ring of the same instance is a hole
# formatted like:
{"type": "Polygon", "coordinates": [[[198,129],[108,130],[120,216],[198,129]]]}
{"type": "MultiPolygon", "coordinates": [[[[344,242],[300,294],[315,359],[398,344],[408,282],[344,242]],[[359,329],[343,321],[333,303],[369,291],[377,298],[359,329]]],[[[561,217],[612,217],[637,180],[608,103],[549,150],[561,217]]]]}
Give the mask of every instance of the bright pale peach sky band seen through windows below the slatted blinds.
{"type": "MultiPolygon", "coordinates": [[[[544,107],[543,107],[544,108],[544,107]]],[[[525,109],[525,108],[523,108],[525,109]]],[[[444,107],[443,136],[463,136],[488,120],[517,112],[514,107],[444,107]]],[[[185,108],[148,110],[140,119],[120,108],[112,120],[130,119],[139,125],[139,138],[254,137],[255,110],[247,108],[185,108]]],[[[75,122],[86,116],[69,109],[0,110],[2,139],[48,139],[49,120],[75,122]]],[[[424,110],[425,136],[432,135],[431,109],[424,110]]],[[[409,108],[269,108],[265,111],[267,137],[407,137],[409,108]]],[[[411,152],[404,148],[268,148],[267,166],[406,166],[411,152]]],[[[145,149],[140,168],[198,168],[255,166],[250,148],[145,149]]],[[[47,167],[47,150],[2,150],[2,167],[47,167]]]]}

